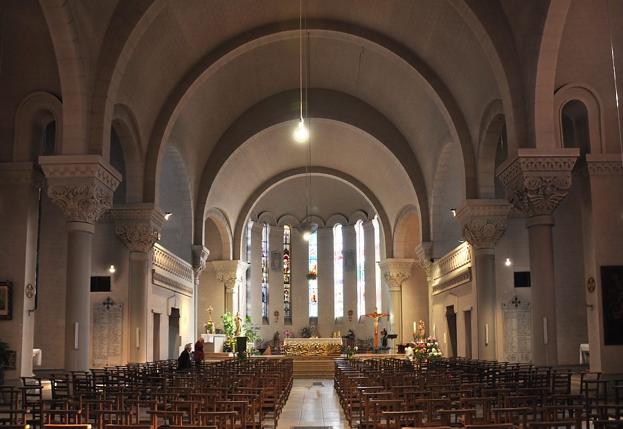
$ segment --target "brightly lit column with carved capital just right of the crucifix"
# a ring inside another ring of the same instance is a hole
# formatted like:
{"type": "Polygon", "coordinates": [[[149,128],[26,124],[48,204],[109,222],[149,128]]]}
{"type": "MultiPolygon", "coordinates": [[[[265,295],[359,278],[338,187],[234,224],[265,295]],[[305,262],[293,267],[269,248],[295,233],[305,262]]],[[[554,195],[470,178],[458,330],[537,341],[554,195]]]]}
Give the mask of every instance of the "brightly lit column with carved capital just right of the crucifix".
{"type": "Polygon", "coordinates": [[[411,267],[413,259],[386,259],[381,261],[381,277],[389,288],[390,292],[390,330],[398,334],[395,344],[403,341],[403,320],[402,320],[402,282],[411,277],[411,267]]]}

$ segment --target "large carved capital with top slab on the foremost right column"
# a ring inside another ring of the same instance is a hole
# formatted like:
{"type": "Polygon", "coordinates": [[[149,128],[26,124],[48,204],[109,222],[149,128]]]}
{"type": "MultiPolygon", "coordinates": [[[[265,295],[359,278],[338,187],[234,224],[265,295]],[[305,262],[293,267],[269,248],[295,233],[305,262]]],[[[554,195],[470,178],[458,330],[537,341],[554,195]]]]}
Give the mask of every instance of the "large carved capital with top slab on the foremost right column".
{"type": "Polygon", "coordinates": [[[506,198],[525,217],[551,215],[569,192],[578,149],[520,149],[498,170],[506,198]]]}

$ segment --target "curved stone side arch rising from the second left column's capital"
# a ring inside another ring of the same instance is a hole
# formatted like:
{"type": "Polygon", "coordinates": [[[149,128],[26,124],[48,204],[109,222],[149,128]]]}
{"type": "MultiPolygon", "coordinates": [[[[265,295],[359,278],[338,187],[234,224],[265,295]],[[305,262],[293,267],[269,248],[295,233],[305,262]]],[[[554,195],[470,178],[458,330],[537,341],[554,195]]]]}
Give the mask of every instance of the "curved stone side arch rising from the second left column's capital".
{"type": "Polygon", "coordinates": [[[114,107],[112,116],[114,128],[125,158],[126,197],[125,202],[141,202],[143,198],[143,151],[141,150],[141,135],[136,126],[136,119],[132,111],[123,104],[114,107]]]}

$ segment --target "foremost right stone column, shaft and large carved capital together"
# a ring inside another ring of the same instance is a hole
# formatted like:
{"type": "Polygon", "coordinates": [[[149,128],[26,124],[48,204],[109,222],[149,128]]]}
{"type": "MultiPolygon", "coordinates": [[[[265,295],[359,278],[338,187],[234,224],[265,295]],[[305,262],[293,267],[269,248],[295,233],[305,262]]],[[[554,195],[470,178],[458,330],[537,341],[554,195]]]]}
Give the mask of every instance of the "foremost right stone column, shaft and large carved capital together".
{"type": "Polygon", "coordinates": [[[554,210],[571,187],[577,149],[520,149],[498,169],[507,200],[525,216],[532,283],[532,360],[558,363],[552,227],[554,210]]]}

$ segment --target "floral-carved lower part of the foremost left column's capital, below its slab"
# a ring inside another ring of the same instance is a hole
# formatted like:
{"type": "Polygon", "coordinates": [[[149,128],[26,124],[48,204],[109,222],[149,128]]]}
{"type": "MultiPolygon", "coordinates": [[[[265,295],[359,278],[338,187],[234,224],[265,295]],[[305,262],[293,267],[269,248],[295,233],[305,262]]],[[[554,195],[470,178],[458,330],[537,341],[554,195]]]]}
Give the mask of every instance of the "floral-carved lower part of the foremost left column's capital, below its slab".
{"type": "Polygon", "coordinates": [[[48,197],[61,209],[67,222],[95,224],[112,207],[112,191],[98,183],[52,184],[48,197]]]}

